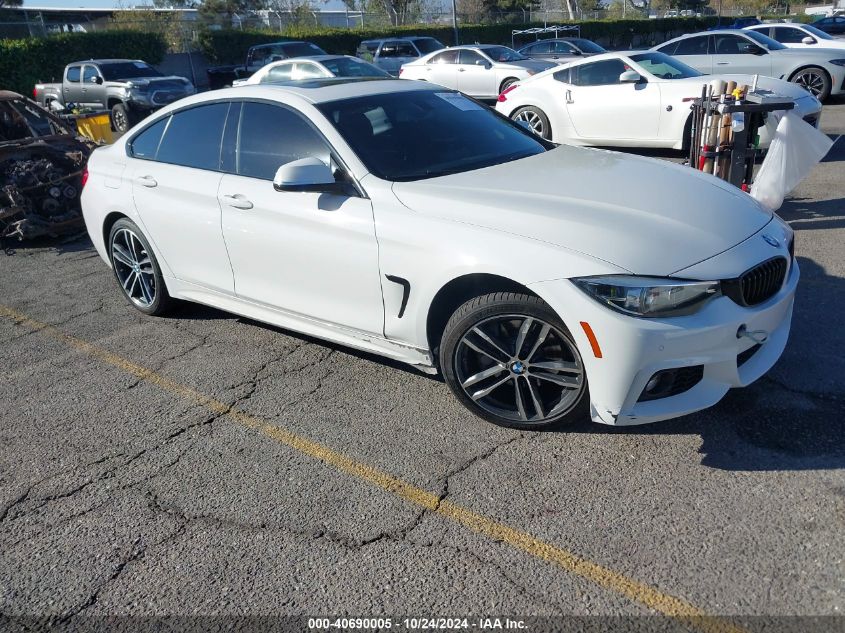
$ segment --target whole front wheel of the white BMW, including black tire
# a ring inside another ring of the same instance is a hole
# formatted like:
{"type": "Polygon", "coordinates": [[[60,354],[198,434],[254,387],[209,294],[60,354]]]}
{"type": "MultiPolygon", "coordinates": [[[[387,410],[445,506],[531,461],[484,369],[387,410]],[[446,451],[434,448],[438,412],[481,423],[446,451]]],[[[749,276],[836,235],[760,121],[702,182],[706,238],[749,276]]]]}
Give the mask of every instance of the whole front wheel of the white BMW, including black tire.
{"type": "Polygon", "coordinates": [[[497,292],[467,301],[446,324],[439,360],[458,400],[494,424],[539,430],[586,417],[581,354],[539,297],[497,292]]]}

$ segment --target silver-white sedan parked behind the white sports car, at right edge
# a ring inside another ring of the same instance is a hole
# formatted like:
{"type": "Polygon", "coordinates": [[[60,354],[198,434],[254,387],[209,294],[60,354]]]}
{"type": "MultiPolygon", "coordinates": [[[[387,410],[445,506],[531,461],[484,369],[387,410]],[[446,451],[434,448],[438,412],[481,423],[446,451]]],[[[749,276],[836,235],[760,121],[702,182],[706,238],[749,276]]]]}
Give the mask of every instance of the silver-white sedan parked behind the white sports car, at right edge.
{"type": "Polygon", "coordinates": [[[787,48],[757,31],[692,33],[652,50],[678,57],[708,75],[731,73],[786,79],[803,86],[821,101],[845,92],[845,51],[787,48]]]}

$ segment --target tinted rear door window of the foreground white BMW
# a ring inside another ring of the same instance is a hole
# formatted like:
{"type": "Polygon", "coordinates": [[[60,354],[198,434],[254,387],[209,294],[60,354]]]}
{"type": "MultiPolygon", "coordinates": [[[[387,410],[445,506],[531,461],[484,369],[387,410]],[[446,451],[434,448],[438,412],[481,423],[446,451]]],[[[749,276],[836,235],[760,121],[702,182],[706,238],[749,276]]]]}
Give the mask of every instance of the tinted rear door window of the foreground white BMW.
{"type": "Polygon", "coordinates": [[[228,103],[212,103],[174,114],[156,160],[196,169],[220,169],[220,138],[228,109],[228,103]]]}

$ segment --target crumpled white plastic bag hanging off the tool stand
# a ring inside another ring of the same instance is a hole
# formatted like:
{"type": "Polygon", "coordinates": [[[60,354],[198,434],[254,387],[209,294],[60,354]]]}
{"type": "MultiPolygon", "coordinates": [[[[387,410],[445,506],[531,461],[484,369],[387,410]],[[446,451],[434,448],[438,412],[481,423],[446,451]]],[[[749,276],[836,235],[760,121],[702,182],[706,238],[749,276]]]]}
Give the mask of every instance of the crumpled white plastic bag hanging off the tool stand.
{"type": "MultiPolygon", "coordinates": [[[[776,118],[780,112],[772,112],[776,118]]],[[[769,152],[751,186],[751,197],[772,211],[830,150],[833,142],[792,110],[782,114],[769,152]]],[[[767,121],[767,124],[769,122],[767,121]]]]}

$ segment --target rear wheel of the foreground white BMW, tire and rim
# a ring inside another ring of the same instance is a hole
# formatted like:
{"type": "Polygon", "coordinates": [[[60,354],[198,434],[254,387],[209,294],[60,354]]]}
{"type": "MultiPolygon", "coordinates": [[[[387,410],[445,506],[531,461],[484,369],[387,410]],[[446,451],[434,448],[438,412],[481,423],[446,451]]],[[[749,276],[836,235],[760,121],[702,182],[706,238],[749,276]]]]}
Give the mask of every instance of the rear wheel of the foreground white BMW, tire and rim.
{"type": "Polygon", "coordinates": [[[161,268],[138,225],[121,218],[109,233],[109,259],[123,296],[135,308],[157,316],[164,314],[172,299],[167,293],[161,268]]]}

